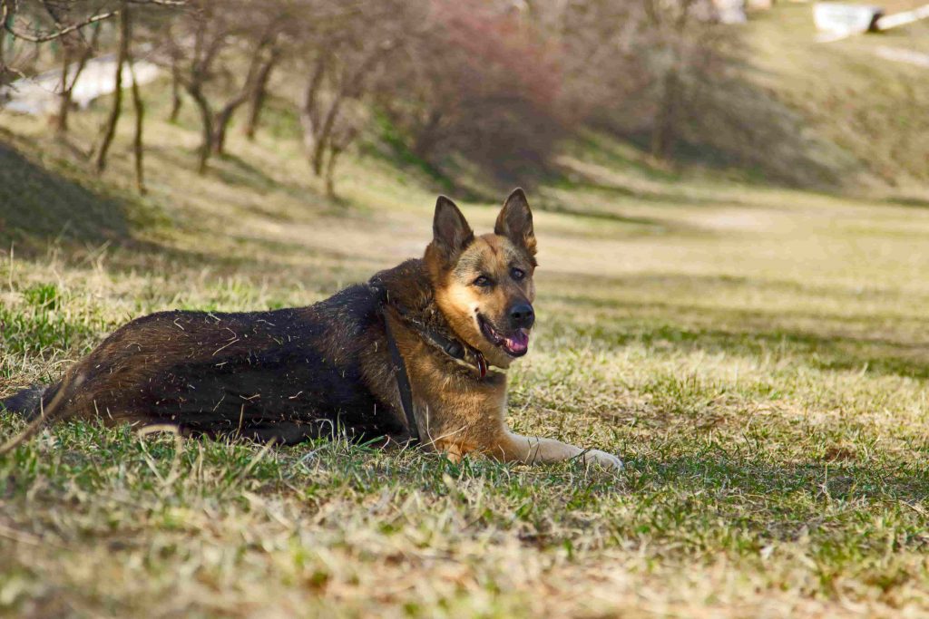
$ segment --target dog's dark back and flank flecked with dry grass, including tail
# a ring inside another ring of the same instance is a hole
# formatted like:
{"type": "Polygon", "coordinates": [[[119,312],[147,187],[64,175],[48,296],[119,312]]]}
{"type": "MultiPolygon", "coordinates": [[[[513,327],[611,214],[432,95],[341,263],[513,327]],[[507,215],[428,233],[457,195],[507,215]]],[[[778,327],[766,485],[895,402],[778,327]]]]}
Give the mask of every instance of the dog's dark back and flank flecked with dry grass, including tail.
{"type": "Polygon", "coordinates": [[[407,435],[381,308],[435,314],[421,261],[307,307],[159,312],[117,329],[58,383],[2,404],[35,418],[172,424],[182,432],[297,443],[345,431],[407,435]],[[53,403],[58,402],[53,406],[53,403]]]}

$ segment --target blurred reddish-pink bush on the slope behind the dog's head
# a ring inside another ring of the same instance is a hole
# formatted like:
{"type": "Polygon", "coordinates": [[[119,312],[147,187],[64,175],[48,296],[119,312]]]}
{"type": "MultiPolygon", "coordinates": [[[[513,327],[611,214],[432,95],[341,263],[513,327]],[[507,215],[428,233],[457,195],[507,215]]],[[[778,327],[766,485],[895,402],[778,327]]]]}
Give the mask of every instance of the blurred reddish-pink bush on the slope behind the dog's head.
{"type": "Polygon", "coordinates": [[[561,74],[521,17],[475,0],[432,5],[379,97],[417,157],[441,166],[461,156],[507,183],[548,167],[569,125],[561,74]]]}

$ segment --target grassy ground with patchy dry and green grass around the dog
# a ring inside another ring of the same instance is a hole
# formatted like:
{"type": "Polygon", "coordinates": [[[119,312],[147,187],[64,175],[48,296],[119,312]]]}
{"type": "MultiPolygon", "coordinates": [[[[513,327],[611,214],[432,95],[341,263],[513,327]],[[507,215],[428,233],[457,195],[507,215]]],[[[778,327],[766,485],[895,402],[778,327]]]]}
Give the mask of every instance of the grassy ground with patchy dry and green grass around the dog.
{"type": "MultiPolygon", "coordinates": [[[[312,303],[429,239],[414,172],[349,158],[326,200],[281,114],[201,178],[192,111],[164,111],[144,199],[127,135],[101,179],[74,162],[95,112],[64,146],[0,114],[0,394],[134,316],[312,303]]],[[[929,202],[662,171],[599,135],[559,165],[530,190],[538,332],[508,416],[625,471],[63,424],[0,458],[0,609],[929,613],[929,202]]],[[[491,227],[499,204],[460,203],[491,227]]]]}

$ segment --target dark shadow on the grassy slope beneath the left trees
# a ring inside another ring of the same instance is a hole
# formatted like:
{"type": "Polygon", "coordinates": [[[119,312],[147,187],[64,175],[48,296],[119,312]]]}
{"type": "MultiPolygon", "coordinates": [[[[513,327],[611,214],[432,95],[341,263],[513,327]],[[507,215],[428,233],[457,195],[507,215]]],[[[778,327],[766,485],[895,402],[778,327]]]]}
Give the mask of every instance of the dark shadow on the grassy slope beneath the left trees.
{"type": "MultiPolygon", "coordinates": [[[[2,136],[10,137],[11,142],[0,141],[0,247],[8,249],[9,243],[15,242],[17,258],[29,260],[59,247],[64,250],[59,257],[66,264],[82,264],[106,251],[106,267],[113,272],[169,270],[207,263],[222,275],[237,272],[243,264],[267,264],[269,269],[277,269],[281,264],[273,257],[282,250],[322,257],[321,251],[295,243],[255,239],[247,231],[238,237],[252,251],[223,254],[162,243],[157,240],[157,230],[154,235],[148,234],[159,225],[170,225],[157,207],[134,193],[123,194],[102,183],[98,186],[81,169],[75,168],[72,176],[72,161],[57,161],[54,169],[46,168],[43,161],[33,161],[33,155],[16,149],[20,146],[15,135],[2,136]],[[137,236],[136,232],[141,231],[146,234],[137,236]],[[268,251],[255,255],[255,243],[268,251]]],[[[31,150],[24,144],[21,148],[31,150]]],[[[183,154],[157,147],[150,148],[149,160],[177,167],[190,164],[183,154]]],[[[217,159],[215,163],[219,169],[211,169],[210,174],[229,185],[289,191],[307,199],[305,190],[281,185],[238,157],[217,159]]],[[[260,206],[250,208],[258,210],[260,206]]],[[[290,219],[286,213],[261,213],[277,220],[290,219]]],[[[352,256],[336,258],[348,260],[352,256]]]]}

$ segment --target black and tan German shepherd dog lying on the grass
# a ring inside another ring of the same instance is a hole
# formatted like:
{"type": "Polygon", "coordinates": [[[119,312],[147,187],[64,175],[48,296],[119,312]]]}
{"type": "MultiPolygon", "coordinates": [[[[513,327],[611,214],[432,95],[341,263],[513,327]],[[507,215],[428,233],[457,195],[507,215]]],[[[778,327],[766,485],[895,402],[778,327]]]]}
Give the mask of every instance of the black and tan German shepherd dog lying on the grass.
{"type": "Polygon", "coordinates": [[[333,432],[422,445],[457,460],[608,453],[507,428],[505,371],[529,350],[536,239],[526,195],[476,237],[439,197],[419,260],[308,307],[160,312],[118,329],[67,371],[3,402],[33,419],[171,424],[187,434],[294,444],[333,432]],[[53,412],[54,409],[54,412],[53,412]]]}

